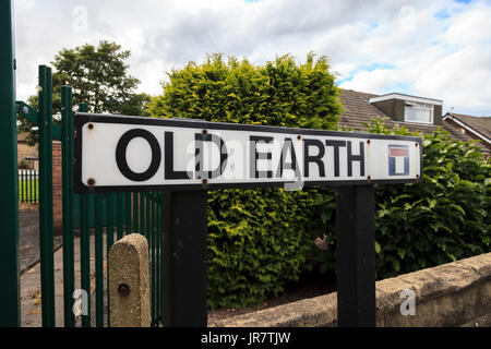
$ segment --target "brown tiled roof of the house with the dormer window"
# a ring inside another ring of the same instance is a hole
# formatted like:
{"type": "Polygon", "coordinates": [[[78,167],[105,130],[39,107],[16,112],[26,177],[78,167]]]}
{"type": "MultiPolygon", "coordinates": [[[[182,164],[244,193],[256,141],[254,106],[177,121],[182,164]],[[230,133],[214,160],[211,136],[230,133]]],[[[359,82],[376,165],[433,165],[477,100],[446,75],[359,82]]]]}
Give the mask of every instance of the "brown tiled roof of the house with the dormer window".
{"type": "MultiPolygon", "coordinates": [[[[378,109],[375,106],[370,104],[369,99],[373,97],[378,97],[378,95],[351,89],[340,89],[339,99],[340,103],[343,104],[344,111],[342,115],[342,119],[339,121],[339,129],[342,127],[345,127],[347,129],[366,131],[367,130],[366,123],[369,123],[371,118],[380,119],[384,125],[390,128],[394,128],[395,125],[399,124],[404,125],[410,132],[422,132],[424,134],[432,133],[436,131],[439,128],[438,125],[433,124],[394,121],[385,113],[383,113],[380,109],[378,109]]],[[[482,119],[475,117],[470,118],[482,119]]],[[[491,121],[491,118],[487,119],[491,121]]],[[[478,120],[478,122],[482,122],[482,120],[478,120]]],[[[489,123],[487,124],[489,127],[489,123]]],[[[443,121],[441,129],[448,131],[450,135],[454,140],[457,141],[472,140],[469,135],[462,133],[458,130],[458,128],[456,128],[451,122],[443,121]]],[[[490,155],[490,149],[484,144],[479,142],[477,145],[482,149],[482,153],[490,155]]]]}

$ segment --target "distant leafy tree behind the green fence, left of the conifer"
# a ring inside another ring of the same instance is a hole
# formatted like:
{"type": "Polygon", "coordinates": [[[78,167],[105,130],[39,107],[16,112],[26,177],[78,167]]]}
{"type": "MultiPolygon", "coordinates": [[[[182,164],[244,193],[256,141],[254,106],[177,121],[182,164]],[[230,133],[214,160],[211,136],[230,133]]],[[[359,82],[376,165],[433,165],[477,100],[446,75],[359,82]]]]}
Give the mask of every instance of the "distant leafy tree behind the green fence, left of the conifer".
{"type": "MultiPolygon", "coordinates": [[[[105,40],[98,47],[86,44],[60,50],[51,62],[53,115],[61,112],[61,86],[67,85],[73,89],[73,105],[86,103],[91,112],[148,116],[144,110],[151,98],[135,93],[140,81],[128,74],[130,55],[120,45],[105,40]]],[[[27,103],[37,108],[37,98],[31,96],[27,103]]],[[[19,121],[19,132],[32,130],[31,122],[19,121]]],[[[31,132],[28,143],[36,140],[36,132],[31,132]]]]}

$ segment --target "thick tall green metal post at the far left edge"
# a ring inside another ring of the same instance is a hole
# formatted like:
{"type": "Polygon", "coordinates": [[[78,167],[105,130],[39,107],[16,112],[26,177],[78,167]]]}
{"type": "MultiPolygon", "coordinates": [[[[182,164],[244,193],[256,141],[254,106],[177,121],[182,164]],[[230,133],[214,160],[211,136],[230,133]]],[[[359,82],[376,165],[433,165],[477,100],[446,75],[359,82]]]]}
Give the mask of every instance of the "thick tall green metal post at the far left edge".
{"type": "Polygon", "coordinates": [[[19,174],[15,129],[13,11],[0,1],[0,327],[21,326],[19,281],[19,174]]]}

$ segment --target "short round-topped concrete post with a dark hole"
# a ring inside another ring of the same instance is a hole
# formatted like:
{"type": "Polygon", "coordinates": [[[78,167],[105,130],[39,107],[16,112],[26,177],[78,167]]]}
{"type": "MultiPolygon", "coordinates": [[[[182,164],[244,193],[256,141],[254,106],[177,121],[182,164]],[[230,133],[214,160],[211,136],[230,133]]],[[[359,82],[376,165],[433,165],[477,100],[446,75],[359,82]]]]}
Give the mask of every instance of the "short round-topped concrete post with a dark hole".
{"type": "Polygon", "coordinates": [[[109,312],[111,327],[151,325],[148,243],[132,233],[109,251],[109,312]]]}

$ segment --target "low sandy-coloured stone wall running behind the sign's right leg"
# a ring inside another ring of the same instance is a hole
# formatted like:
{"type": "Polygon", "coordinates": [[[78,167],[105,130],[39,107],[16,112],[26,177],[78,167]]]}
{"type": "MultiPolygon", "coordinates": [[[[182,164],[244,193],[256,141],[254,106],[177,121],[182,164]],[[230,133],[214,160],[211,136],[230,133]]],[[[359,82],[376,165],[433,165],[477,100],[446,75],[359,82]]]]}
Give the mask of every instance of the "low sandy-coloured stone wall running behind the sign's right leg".
{"type": "MultiPolygon", "coordinates": [[[[333,292],[226,318],[216,326],[333,327],[336,318],[333,292]]],[[[491,253],[378,281],[376,326],[491,326],[491,253]],[[408,312],[411,292],[414,315],[408,312]]]]}

